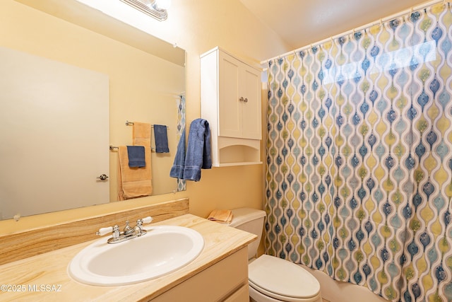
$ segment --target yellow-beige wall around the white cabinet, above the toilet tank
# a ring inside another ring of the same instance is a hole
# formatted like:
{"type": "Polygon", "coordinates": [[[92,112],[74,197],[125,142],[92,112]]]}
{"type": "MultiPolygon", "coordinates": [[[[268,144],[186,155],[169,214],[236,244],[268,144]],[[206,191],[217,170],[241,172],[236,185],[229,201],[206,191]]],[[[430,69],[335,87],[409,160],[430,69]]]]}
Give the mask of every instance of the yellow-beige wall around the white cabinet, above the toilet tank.
{"type": "MultiPolygon", "coordinates": [[[[155,21],[155,28],[149,30],[187,52],[188,121],[201,115],[200,54],[220,46],[258,64],[288,50],[239,0],[173,0],[168,19],[155,21]]],[[[200,182],[187,184],[193,214],[207,216],[215,208],[262,207],[262,165],[213,168],[201,175],[200,182]]]]}

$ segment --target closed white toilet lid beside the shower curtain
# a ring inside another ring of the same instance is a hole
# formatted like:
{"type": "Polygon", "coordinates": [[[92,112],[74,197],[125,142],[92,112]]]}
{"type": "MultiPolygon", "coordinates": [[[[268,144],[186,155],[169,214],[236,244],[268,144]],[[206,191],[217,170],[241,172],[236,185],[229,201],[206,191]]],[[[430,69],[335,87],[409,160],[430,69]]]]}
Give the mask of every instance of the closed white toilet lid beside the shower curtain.
{"type": "Polygon", "coordinates": [[[306,269],[278,257],[262,255],[251,262],[248,269],[250,283],[270,294],[311,298],[320,292],[319,281],[306,269]]]}

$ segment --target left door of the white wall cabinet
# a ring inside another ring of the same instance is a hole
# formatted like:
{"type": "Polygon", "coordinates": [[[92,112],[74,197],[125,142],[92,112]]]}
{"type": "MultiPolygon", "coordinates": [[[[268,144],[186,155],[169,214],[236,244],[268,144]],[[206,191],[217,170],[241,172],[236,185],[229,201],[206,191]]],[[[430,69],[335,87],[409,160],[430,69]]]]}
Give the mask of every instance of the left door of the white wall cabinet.
{"type": "Polygon", "coordinates": [[[242,62],[224,52],[219,52],[218,60],[218,135],[242,137],[242,102],[239,101],[239,74],[242,62]]]}

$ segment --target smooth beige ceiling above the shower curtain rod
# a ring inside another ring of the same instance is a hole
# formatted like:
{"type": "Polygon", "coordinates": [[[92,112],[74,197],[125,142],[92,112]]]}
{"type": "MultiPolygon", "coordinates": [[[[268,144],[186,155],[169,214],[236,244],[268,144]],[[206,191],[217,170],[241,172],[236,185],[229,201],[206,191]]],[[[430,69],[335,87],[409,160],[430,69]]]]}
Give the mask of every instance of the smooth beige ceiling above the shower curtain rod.
{"type": "Polygon", "coordinates": [[[425,0],[240,0],[295,50],[377,22],[425,0]]]}

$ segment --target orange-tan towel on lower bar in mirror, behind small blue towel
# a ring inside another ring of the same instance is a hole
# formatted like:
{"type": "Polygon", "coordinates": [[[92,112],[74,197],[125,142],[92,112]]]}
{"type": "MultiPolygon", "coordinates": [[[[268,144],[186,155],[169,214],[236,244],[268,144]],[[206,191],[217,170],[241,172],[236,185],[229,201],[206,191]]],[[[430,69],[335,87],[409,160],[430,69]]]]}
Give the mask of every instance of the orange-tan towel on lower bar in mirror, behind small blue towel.
{"type": "Polygon", "coordinates": [[[118,198],[125,200],[133,197],[148,196],[153,192],[152,170],[150,166],[150,146],[144,147],[145,163],[143,168],[130,168],[127,146],[118,148],[118,198]]]}

